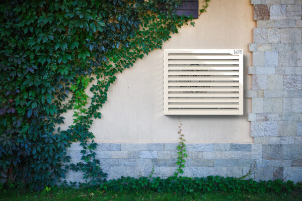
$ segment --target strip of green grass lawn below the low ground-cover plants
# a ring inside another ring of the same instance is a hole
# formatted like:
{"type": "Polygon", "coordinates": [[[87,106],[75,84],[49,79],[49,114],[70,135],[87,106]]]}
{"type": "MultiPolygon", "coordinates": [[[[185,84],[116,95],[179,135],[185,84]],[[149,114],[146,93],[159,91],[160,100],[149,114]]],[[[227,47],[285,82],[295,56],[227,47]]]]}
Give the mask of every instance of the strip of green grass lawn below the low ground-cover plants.
{"type": "Polygon", "coordinates": [[[192,192],[156,193],[150,192],[115,192],[98,189],[55,189],[49,192],[24,192],[20,190],[1,190],[0,200],[302,200],[302,191],[287,194],[276,193],[230,193],[230,192],[192,192]]]}

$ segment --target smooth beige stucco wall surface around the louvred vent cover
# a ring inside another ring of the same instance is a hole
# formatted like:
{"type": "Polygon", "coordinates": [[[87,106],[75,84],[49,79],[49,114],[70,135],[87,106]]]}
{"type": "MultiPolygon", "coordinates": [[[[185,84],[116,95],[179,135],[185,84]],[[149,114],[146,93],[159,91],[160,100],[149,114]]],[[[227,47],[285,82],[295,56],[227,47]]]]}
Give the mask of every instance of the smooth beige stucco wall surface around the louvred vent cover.
{"type": "MultiPolygon", "coordinates": [[[[203,1],[199,1],[199,6],[203,1]]],[[[131,69],[117,75],[108,100],[100,110],[102,119],[91,131],[96,142],[178,142],[178,116],[163,115],[164,49],[244,49],[245,89],[251,88],[247,75],[252,65],[253,6],[250,0],[212,0],[206,13],[172,35],[162,50],[154,50],[131,69]]],[[[182,116],[187,143],[253,143],[250,137],[251,101],[245,98],[243,116],[182,116]]],[[[72,123],[72,111],[65,115],[72,123]]]]}

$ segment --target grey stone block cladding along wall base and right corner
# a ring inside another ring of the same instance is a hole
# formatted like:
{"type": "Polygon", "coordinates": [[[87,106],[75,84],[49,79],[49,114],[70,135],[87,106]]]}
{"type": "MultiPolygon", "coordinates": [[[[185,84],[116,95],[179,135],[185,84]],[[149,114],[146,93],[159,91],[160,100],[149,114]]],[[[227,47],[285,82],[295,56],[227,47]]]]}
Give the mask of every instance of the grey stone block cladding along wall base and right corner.
{"type": "MultiPolygon", "coordinates": [[[[302,1],[252,0],[254,5],[251,136],[254,144],[187,144],[184,176],[248,177],[255,180],[302,181],[302,1]]],[[[121,176],[172,176],[176,171],[177,143],[99,144],[96,150],[108,179],[121,176]]],[[[81,158],[80,146],[68,150],[71,162],[81,158]]],[[[82,180],[68,172],[68,180],[82,180]]]]}

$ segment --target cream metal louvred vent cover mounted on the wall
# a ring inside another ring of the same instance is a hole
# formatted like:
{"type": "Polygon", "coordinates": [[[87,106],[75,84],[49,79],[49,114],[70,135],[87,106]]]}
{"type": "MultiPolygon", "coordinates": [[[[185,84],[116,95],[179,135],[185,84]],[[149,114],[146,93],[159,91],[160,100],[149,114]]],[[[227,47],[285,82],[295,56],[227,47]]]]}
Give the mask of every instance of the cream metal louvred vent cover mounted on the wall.
{"type": "Polygon", "coordinates": [[[165,50],[165,115],[243,115],[243,50],[165,50]]]}

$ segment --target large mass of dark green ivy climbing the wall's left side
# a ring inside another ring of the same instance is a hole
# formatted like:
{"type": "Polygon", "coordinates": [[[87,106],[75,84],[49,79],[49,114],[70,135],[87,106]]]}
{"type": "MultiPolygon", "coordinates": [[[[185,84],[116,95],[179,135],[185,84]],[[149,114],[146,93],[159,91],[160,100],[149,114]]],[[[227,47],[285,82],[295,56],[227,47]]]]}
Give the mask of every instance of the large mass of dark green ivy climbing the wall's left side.
{"type": "MultiPolygon", "coordinates": [[[[208,1],[207,1],[208,2],[208,1]]],[[[103,182],[90,127],[116,73],[178,33],[192,17],[179,0],[5,0],[0,4],[0,175],[35,190],[82,171],[103,182]],[[165,8],[165,12],[159,9],[165,8]],[[86,88],[93,94],[89,97],[86,88]],[[57,129],[73,110],[73,125],[57,129]],[[66,148],[79,141],[82,161],[66,148]]],[[[80,183],[81,185],[81,183],[80,183]]]]}

